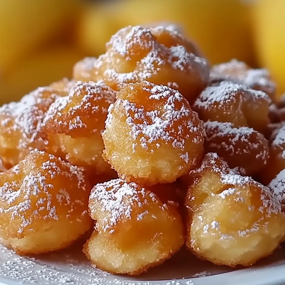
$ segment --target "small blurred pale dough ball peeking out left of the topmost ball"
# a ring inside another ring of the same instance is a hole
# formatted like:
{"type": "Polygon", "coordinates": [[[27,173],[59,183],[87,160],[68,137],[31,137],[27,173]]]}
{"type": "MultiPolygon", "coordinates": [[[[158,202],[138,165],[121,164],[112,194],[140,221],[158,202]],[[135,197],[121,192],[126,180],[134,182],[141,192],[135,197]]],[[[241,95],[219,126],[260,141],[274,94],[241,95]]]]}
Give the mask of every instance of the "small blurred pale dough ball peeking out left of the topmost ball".
{"type": "Polygon", "coordinates": [[[73,78],[77,81],[97,81],[94,66],[97,58],[86,57],[77,62],[73,67],[73,78]]]}

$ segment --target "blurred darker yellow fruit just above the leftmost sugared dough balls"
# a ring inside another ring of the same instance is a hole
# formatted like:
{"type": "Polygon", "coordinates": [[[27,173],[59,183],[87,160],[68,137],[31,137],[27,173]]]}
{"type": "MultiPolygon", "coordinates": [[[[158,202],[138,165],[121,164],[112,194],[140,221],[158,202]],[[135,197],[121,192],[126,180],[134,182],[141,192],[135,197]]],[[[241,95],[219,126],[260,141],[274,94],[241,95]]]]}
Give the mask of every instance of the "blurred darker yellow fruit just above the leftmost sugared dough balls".
{"type": "Polygon", "coordinates": [[[84,56],[73,47],[55,46],[15,64],[10,74],[0,81],[0,105],[17,101],[39,86],[63,77],[71,78],[73,65],[84,56]]]}

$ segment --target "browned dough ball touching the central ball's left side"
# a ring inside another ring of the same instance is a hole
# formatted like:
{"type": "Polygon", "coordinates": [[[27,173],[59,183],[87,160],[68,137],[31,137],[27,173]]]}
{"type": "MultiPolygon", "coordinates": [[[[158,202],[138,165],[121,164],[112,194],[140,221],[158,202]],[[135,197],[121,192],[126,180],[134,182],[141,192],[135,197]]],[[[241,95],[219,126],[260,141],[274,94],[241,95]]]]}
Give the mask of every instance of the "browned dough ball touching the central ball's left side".
{"type": "MultiPolygon", "coordinates": [[[[102,81],[77,82],[50,106],[42,126],[48,152],[83,167],[88,177],[116,177],[102,158],[107,109],[116,92],[102,81]]],[[[97,179],[97,178],[96,178],[97,179]]]]}

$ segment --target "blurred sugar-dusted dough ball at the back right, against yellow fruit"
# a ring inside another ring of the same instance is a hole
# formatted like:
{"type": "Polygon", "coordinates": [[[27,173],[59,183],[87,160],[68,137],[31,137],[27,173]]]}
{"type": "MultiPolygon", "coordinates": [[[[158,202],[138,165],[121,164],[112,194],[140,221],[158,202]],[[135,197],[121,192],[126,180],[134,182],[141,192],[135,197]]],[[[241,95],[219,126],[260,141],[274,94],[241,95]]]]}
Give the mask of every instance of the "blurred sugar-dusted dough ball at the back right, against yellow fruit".
{"type": "Polygon", "coordinates": [[[245,62],[232,59],[211,68],[210,84],[225,80],[261,90],[274,100],[276,85],[266,69],[251,69],[245,62]]]}

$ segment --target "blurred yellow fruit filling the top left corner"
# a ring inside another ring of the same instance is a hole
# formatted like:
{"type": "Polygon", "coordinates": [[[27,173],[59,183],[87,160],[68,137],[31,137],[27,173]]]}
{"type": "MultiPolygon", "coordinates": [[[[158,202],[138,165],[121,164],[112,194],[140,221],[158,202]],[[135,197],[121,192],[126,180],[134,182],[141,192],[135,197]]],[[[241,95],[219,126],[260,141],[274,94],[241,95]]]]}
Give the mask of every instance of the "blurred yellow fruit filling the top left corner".
{"type": "Polygon", "coordinates": [[[72,20],[79,0],[0,0],[0,72],[72,20]]]}

